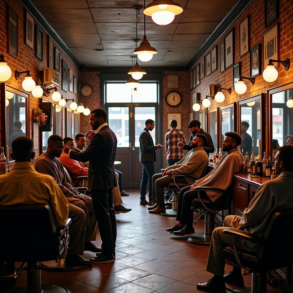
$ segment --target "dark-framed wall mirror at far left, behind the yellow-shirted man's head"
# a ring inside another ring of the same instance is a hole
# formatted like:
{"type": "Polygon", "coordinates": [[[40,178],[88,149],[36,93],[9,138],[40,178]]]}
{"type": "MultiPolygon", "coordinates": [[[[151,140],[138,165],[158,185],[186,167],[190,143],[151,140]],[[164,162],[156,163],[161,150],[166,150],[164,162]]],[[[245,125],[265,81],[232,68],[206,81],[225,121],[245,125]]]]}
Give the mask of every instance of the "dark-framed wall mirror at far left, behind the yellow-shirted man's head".
{"type": "MultiPolygon", "coordinates": [[[[29,94],[8,86],[1,84],[1,136],[4,147],[5,156],[6,144],[11,154],[11,143],[19,136],[29,135],[29,94]]],[[[12,162],[9,155],[9,162],[12,162]]]]}

